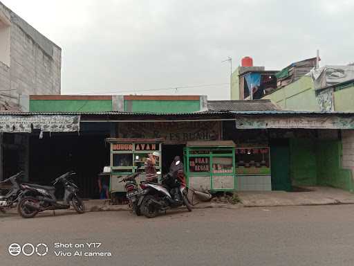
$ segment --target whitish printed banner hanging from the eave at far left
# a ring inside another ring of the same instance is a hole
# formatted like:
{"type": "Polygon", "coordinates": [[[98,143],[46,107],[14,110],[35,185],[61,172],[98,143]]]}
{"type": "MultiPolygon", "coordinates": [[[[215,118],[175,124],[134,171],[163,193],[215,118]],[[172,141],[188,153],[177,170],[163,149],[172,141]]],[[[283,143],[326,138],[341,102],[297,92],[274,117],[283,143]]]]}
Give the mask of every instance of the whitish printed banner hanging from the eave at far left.
{"type": "Polygon", "coordinates": [[[35,115],[4,116],[0,115],[0,132],[30,133],[32,130],[42,132],[74,132],[80,130],[80,116],[71,115],[35,115]]]}

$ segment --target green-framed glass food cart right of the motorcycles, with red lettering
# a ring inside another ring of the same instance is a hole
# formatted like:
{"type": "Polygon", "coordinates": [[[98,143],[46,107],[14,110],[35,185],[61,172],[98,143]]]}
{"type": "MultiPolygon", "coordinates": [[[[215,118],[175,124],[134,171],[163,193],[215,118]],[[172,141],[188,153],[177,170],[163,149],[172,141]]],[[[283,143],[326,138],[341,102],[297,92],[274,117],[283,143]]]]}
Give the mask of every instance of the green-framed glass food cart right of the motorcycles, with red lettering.
{"type": "Polygon", "coordinates": [[[184,154],[189,187],[214,191],[237,189],[233,141],[190,141],[184,154]]]}

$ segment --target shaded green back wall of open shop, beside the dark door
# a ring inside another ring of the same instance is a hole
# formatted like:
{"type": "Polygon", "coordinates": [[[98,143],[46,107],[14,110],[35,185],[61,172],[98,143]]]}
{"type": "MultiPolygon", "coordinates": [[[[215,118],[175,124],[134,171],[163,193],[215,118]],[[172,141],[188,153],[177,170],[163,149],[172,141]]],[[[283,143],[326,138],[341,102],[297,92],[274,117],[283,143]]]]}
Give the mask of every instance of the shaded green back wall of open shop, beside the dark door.
{"type": "Polygon", "coordinates": [[[293,186],[316,186],[315,155],[313,140],[290,139],[290,179],[293,186]]]}

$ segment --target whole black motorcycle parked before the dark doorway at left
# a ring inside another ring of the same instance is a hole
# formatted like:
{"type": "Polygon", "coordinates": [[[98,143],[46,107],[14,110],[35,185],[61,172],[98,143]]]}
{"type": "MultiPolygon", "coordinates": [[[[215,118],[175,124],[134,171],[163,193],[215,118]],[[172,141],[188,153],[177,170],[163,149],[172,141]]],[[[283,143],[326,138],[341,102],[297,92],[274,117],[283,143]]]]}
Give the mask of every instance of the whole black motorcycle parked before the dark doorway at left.
{"type": "Polygon", "coordinates": [[[84,213],[85,206],[82,199],[77,196],[79,188],[69,180],[68,177],[75,175],[75,172],[66,172],[57,177],[53,186],[40,186],[37,184],[21,184],[21,189],[26,193],[18,204],[18,212],[23,218],[33,218],[37,213],[46,210],[69,209],[70,202],[77,213],[84,213]],[[54,195],[55,185],[60,182],[64,185],[63,203],[57,202],[54,195]]]}

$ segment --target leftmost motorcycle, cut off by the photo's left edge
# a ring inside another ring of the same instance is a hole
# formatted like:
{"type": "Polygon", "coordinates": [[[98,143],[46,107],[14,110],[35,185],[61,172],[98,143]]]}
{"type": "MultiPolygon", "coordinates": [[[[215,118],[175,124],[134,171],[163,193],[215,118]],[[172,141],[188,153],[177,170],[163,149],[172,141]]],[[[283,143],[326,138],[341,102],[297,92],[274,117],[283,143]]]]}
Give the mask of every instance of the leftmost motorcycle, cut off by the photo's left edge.
{"type": "Polygon", "coordinates": [[[21,175],[24,175],[24,172],[18,172],[16,175],[12,175],[12,177],[0,182],[0,211],[2,213],[5,213],[6,210],[15,207],[24,195],[24,191],[21,190],[20,183],[18,181],[18,178],[21,177],[21,175]]]}

